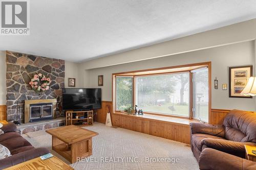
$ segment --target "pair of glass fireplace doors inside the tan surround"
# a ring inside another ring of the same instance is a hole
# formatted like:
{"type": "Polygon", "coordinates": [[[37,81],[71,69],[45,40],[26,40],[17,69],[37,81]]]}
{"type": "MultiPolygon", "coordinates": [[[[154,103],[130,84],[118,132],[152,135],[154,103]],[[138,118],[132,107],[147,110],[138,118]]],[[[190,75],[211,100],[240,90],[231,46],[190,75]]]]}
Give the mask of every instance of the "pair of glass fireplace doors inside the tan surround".
{"type": "Polygon", "coordinates": [[[51,119],[53,117],[52,107],[53,107],[52,103],[31,104],[29,122],[51,119]]]}

